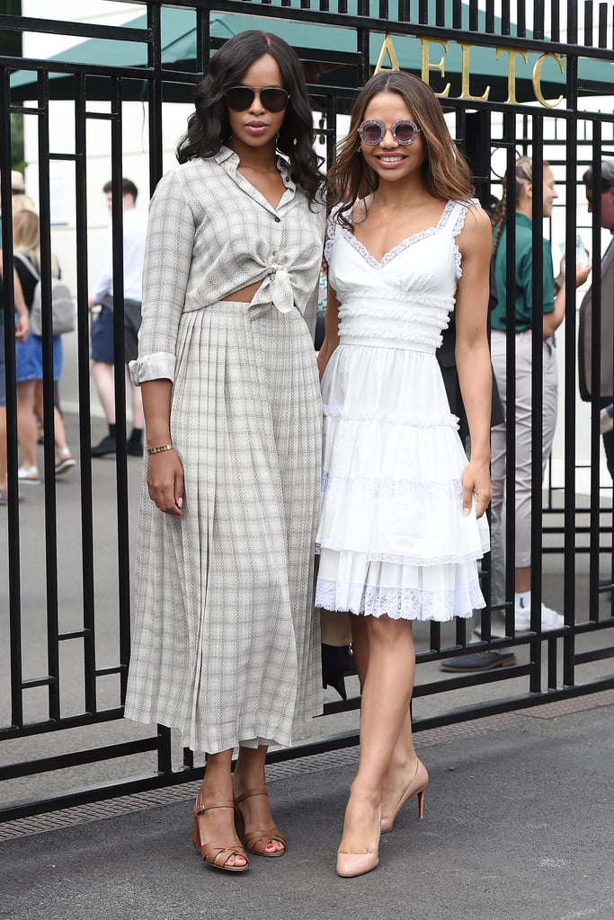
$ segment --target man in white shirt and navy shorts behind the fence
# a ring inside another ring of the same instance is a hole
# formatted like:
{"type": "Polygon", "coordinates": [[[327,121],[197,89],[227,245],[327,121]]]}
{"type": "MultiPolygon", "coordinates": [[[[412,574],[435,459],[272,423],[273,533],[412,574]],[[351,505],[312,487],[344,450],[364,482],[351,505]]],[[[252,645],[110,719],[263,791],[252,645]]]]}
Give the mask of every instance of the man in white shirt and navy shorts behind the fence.
{"type": "MultiPolygon", "coordinates": [[[[112,186],[103,187],[107,205],[111,211],[112,186]]],[[[138,190],[129,178],[122,178],[123,210],[123,332],[124,361],[127,365],[138,357],[138,331],[141,326],[141,301],[143,298],[143,260],[145,258],[145,218],[136,210],[138,190]]],[[[92,447],[92,456],[114,454],[117,446],[115,427],[115,385],[113,379],[113,273],[112,273],[112,231],[110,231],[107,264],[98,285],[89,299],[89,308],[100,305],[100,313],[92,327],[91,374],[98,390],[98,397],[104,409],[109,433],[100,443],[92,447]]],[[[141,390],[134,386],[127,374],[132,394],[133,430],[127,443],[127,452],[132,456],[143,455],[143,403],[141,390]]]]}

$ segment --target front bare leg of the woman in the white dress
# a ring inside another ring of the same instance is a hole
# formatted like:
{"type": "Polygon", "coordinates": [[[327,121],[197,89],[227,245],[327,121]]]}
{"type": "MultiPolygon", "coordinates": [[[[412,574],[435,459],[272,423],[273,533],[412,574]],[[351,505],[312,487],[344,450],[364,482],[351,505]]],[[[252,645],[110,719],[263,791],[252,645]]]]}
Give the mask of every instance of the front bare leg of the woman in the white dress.
{"type": "Polygon", "coordinates": [[[344,853],[365,853],[377,846],[382,787],[408,719],[415,671],[411,621],[387,616],[365,616],[364,620],[353,631],[357,664],[362,668],[366,661],[367,670],[360,719],[360,760],[340,846],[344,853]]]}

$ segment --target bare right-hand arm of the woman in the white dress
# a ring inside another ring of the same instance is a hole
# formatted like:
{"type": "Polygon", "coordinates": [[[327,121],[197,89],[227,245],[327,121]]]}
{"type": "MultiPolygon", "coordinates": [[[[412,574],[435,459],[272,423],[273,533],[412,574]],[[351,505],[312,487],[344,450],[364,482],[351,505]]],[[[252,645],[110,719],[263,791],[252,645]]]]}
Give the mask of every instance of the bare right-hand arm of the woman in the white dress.
{"type": "Polygon", "coordinates": [[[457,291],[455,354],[471,441],[469,465],[463,473],[463,511],[469,512],[475,494],[478,517],[486,511],[492,494],[492,369],[487,333],[491,232],[488,214],[471,208],[458,236],[463,274],[457,291]]]}

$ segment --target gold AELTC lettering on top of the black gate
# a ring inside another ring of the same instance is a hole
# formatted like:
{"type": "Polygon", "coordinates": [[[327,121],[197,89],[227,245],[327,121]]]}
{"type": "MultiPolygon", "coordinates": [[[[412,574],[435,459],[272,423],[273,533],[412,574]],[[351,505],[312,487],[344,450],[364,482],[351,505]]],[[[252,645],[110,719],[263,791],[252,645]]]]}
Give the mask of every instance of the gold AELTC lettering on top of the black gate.
{"type": "MultiPolygon", "coordinates": [[[[422,47],[421,55],[421,76],[423,82],[429,83],[429,74],[432,70],[436,70],[439,75],[442,77],[446,76],[446,54],[448,52],[448,42],[444,39],[425,39],[420,38],[420,43],[422,47]],[[439,63],[434,63],[431,61],[431,45],[439,45],[444,54],[439,59],[439,63]]],[[[460,53],[461,53],[461,68],[460,68],[460,96],[461,99],[471,99],[481,102],[485,102],[491,93],[491,86],[486,86],[486,89],[483,91],[481,96],[474,96],[470,91],[470,78],[471,78],[471,67],[470,67],[470,54],[471,49],[474,48],[474,45],[469,45],[466,42],[459,42],[460,44],[460,53]]],[[[495,60],[498,61],[502,54],[507,54],[507,98],[505,103],[509,105],[516,105],[516,55],[519,55],[524,63],[528,63],[527,52],[516,49],[516,48],[496,48],[494,50],[495,60]]],[[[535,94],[536,101],[540,105],[544,106],[547,109],[554,109],[561,102],[563,97],[560,96],[558,99],[555,99],[553,102],[549,102],[544,98],[544,94],[541,89],[541,70],[544,63],[552,58],[559,67],[560,72],[564,73],[564,59],[553,53],[542,54],[538,61],[533,67],[533,72],[531,75],[531,83],[533,86],[533,92],[535,94]]],[[[384,43],[382,44],[381,51],[379,52],[379,57],[377,58],[376,70],[375,73],[378,74],[382,70],[400,70],[399,59],[397,58],[397,53],[394,49],[394,44],[392,42],[392,36],[388,34],[384,43]],[[388,55],[388,61],[390,63],[389,67],[384,67],[384,60],[388,55]]],[[[440,98],[448,98],[450,93],[451,84],[446,83],[445,88],[438,93],[435,93],[435,96],[440,98]]]]}

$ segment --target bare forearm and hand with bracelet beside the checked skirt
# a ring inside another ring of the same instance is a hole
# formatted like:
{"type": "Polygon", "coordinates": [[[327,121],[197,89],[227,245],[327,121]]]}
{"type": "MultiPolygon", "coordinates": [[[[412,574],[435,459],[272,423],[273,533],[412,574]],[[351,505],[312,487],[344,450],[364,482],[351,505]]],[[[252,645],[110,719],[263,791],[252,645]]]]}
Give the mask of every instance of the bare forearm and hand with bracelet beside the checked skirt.
{"type": "MultiPolygon", "coordinates": [[[[160,447],[170,440],[170,380],[147,380],[141,385],[147,447],[160,447]]],[[[183,466],[176,451],[147,456],[149,498],[161,512],[183,517],[183,466]]]]}

